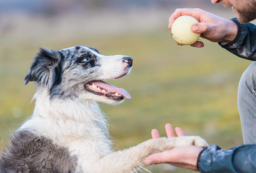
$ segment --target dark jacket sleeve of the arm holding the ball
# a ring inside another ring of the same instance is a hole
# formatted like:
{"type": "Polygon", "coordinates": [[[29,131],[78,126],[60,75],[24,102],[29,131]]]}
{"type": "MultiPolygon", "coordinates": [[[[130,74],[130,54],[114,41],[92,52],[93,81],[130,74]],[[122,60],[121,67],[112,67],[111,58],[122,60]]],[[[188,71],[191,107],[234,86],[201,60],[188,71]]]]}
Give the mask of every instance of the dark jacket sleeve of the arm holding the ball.
{"type": "Polygon", "coordinates": [[[256,61],[256,26],[251,23],[240,24],[237,18],[230,20],[234,21],[238,27],[236,38],[224,45],[219,42],[219,45],[238,57],[256,61]]]}

